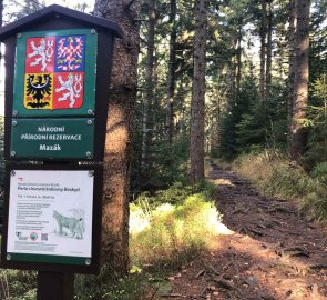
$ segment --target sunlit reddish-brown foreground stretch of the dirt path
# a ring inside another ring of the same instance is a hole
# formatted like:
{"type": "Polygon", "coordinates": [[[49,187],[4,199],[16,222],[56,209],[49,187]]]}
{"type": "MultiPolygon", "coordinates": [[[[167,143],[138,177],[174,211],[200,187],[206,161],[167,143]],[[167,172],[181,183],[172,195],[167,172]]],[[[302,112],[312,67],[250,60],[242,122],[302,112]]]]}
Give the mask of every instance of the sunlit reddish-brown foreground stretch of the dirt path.
{"type": "Polygon", "coordinates": [[[326,272],[317,281],[310,263],[283,257],[279,249],[246,234],[218,237],[201,260],[170,277],[172,297],[164,298],[327,299],[326,272]]]}

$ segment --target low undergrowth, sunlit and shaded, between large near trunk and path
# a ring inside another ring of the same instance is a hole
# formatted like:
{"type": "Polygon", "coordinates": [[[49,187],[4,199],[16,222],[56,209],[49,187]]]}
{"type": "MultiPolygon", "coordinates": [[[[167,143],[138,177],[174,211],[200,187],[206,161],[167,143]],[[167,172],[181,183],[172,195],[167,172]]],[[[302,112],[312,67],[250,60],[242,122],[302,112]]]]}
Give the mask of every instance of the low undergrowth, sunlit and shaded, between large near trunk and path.
{"type": "MultiPolygon", "coordinates": [[[[130,204],[129,276],[78,276],[78,300],[136,300],[168,293],[167,273],[197,257],[219,233],[221,214],[211,196],[214,186],[174,183],[154,194],[143,193],[130,204]]],[[[150,298],[151,298],[150,297],[150,298]]]]}

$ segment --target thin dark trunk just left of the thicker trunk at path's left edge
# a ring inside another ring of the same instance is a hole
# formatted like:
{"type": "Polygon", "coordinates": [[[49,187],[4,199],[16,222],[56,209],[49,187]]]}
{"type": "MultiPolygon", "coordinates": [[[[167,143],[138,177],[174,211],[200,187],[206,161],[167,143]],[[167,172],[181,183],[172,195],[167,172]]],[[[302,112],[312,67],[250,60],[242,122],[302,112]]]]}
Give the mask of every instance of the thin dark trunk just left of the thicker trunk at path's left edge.
{"type": "Polygon", "coordinates": [[[171,0],[170,22],[172,26],[170,39],[170,61],[167,74],[167,101],[166,101],[166,120],[165,120],[165,141],[171,146],[173,140],[173,116],[174,116],[174,94],[175,94],[175,71],[176,71],[176,24],[177,4],[176,0],[171,0]]]}

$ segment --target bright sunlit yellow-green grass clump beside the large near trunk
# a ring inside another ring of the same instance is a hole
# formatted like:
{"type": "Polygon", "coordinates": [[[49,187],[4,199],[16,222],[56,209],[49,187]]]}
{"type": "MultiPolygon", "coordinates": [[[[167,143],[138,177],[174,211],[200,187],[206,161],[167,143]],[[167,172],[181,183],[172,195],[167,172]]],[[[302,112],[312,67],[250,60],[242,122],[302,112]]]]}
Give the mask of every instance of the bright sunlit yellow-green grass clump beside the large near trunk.
{"type": "MultiPolygon", "coordinates": [[[[181,266],[205,249],[210,239],[218,233],[221,216],[208,202],[207,193],[193,193],[182,201],[176,188],[175,184],[172,191],[159,196],[175,204],[152,207],[144,204],[144,199],[132,204],[130,253],[137,268],[181,266]]],[[[186,190],[183,194],[187,193],[186,190]]]]}

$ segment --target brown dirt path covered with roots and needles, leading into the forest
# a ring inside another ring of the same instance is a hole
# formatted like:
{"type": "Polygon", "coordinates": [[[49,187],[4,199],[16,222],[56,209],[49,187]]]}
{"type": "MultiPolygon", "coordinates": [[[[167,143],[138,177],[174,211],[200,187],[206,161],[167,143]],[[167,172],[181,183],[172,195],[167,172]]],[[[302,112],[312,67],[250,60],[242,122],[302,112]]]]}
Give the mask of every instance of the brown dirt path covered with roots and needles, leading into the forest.
{"type": "Polygon", "coordinates": [[[245,179],[212,166],[215,201],[231,234],[170,277],[154,299],[327,299],[327,228],[295,203],[260,196],[245,179]]]}

